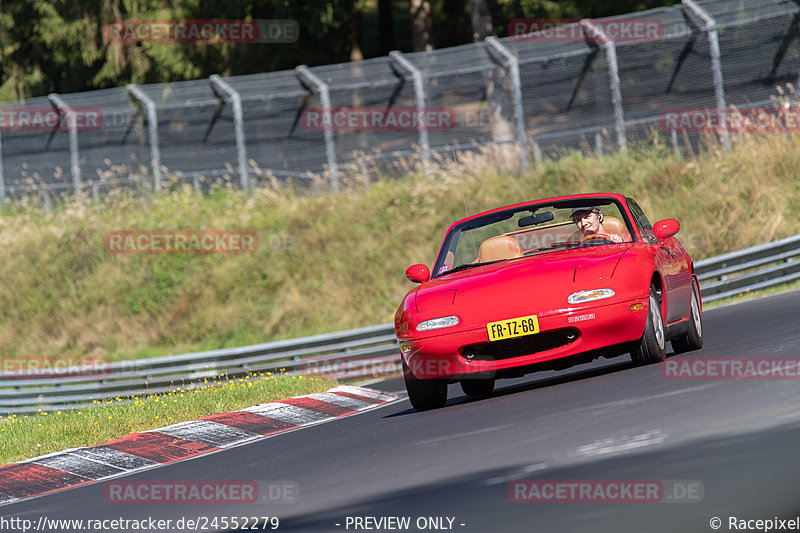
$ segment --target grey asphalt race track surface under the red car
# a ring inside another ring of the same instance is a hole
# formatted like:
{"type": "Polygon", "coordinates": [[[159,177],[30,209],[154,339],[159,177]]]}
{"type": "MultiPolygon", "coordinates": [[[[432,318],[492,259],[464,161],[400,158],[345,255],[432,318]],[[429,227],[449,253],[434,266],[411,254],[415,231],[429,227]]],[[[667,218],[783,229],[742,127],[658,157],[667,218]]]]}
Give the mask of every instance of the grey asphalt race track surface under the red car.
{"type": "MultiPolygon", "coordinates": [[[[702,351],[668,361],[800,358],[800,292],[709,310],[704,330],[702,351]]],[[[403,389],[400,380],[371,386],[403,389]]],[[[402,400],[125,478],[279,480],[297,488],[292,502],[112,505],[101,482],[2,506],[0,517],[277,516],[276,531],[464,533],[707,532],[716,517],[717,531],[732,531],[730,517],[800,515],[799,449],[800,378],[667,379],[663,366],[621,357],[500,381],[484,399],[453,385],[444,409],[418,413],[402,400]],[[660,502],[516,502],[515,480],[656,480],[665,488],[660,502]]],[[[86,529],[48,531],[76,530],[86,529]]]]}

